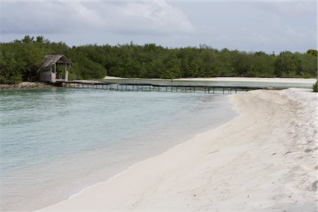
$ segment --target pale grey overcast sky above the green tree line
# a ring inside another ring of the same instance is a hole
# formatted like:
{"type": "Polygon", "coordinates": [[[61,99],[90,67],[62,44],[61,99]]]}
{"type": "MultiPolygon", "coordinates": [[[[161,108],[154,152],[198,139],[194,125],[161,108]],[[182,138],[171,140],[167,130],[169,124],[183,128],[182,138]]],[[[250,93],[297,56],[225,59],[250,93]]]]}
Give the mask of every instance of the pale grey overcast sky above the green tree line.
{"type": "Polygon", "coordinates": [[[0,41],[317,49],[316,1],[2,1],[0,41]]]}

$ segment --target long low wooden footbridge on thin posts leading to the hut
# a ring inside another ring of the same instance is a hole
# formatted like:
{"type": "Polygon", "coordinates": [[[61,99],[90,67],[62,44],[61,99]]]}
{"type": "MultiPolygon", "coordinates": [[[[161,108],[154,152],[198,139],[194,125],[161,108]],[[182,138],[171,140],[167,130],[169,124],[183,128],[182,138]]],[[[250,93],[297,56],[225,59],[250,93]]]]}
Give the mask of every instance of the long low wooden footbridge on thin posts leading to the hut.
{"type": "Polygon", "coordinates": [[[165,92],[182,92],[182,93],[223,93],[231,94],[240,91],[272,89],[264,87],[248,86],[190,86],[178,84],[153,84],[153,83],[112,83],[98,81],[59,81],[57,86],[66,88],[94,88],[102,90],[119,90],[119,91],[165,91],[165,92]]]}

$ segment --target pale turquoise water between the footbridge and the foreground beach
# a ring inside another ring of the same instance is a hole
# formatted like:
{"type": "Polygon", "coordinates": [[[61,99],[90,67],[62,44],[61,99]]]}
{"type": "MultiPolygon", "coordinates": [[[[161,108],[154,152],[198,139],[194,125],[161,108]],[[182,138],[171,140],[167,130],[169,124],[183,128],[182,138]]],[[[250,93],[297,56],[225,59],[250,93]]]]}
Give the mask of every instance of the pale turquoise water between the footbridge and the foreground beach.
{"type": "Polygon", "coordinates": [[[0,90],[1,211],[43,208],[228,122],[225,95],[0,90]]]}

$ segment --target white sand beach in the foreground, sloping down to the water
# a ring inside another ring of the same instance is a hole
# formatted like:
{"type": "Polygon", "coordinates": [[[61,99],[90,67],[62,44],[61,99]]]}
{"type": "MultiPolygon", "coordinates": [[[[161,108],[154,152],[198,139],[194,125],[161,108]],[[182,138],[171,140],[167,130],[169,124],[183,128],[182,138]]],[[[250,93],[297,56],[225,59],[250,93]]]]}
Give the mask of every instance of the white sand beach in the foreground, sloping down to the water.
{"type": "Polygon", "coordinates": [[[317,93],[229,99],[231,122],[40,211],[317,211],[317,93]]]}

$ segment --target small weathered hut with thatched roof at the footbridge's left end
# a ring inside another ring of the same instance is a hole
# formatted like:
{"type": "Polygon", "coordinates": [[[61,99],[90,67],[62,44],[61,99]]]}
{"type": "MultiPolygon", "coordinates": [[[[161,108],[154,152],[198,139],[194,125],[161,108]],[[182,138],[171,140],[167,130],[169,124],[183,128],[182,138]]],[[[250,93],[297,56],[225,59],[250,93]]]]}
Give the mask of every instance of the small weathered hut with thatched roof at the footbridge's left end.
{"type": "Polygon", "coordinates": [[[49,54],[45,56],[37,73],[40,74],[40,81],[55,83],[56,81],[68,81],[69,71],[67,67],[71,62],[62,54],[49,54]],[[57,66],[64,66],[64,70],[57,70],[57,66]]]}

